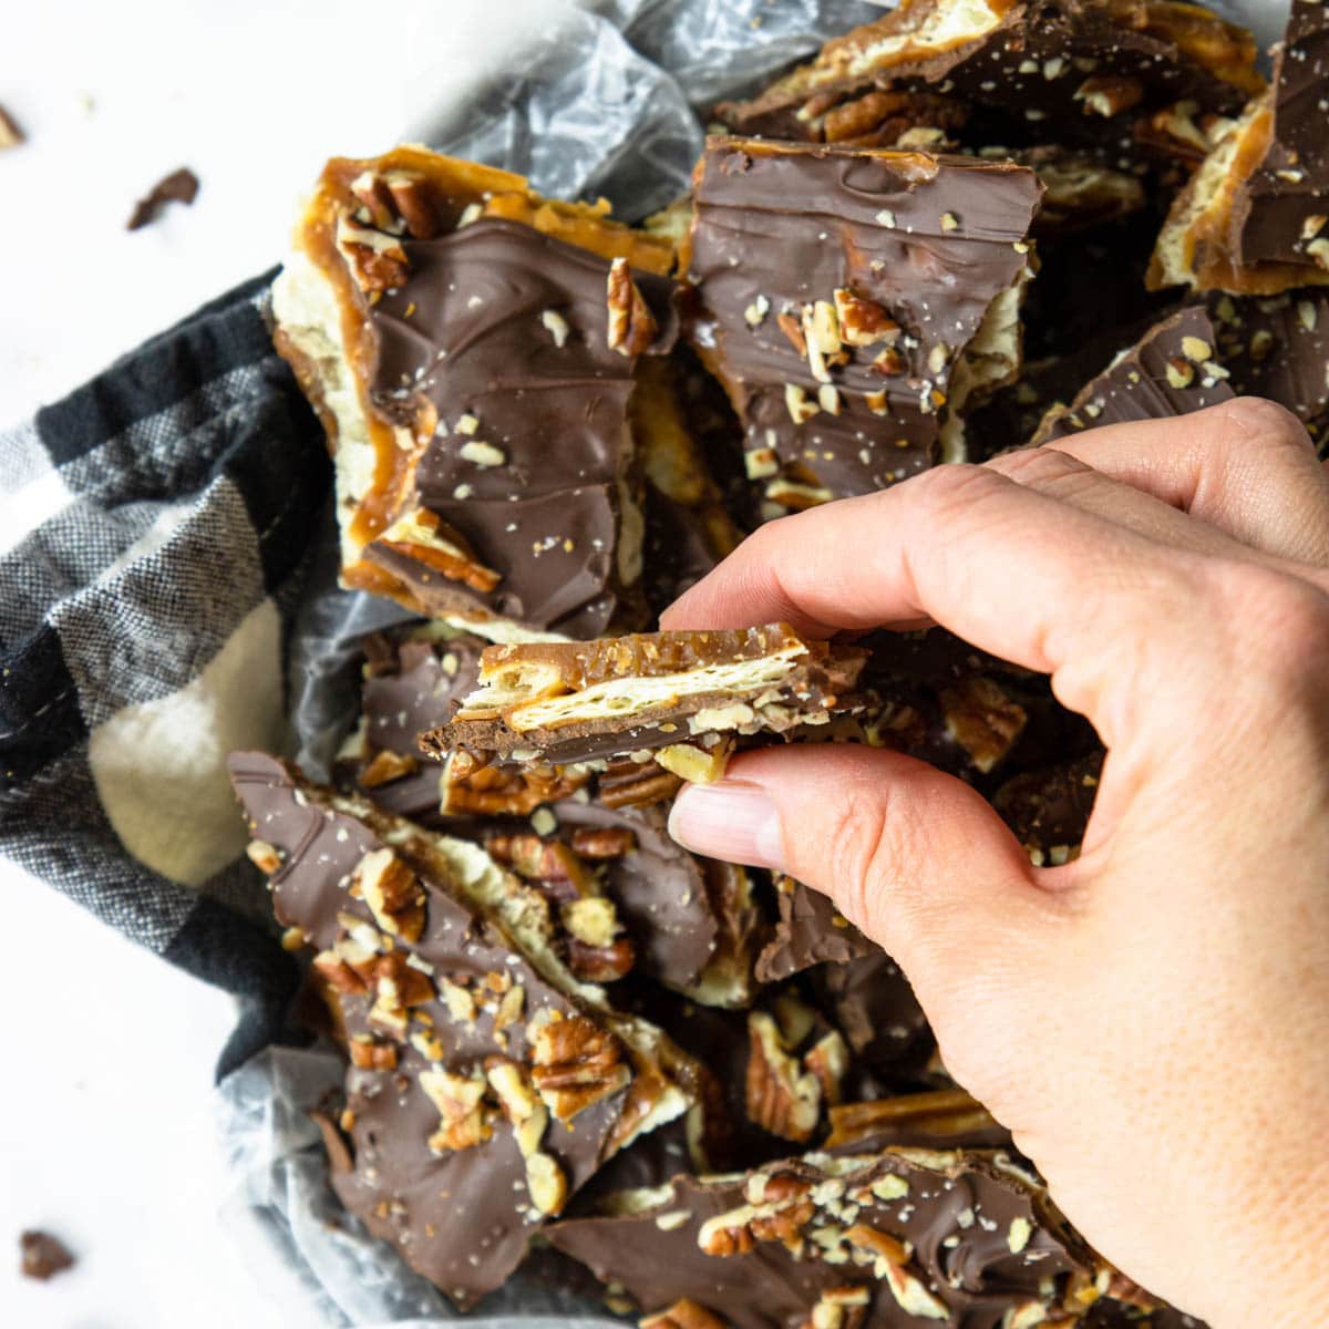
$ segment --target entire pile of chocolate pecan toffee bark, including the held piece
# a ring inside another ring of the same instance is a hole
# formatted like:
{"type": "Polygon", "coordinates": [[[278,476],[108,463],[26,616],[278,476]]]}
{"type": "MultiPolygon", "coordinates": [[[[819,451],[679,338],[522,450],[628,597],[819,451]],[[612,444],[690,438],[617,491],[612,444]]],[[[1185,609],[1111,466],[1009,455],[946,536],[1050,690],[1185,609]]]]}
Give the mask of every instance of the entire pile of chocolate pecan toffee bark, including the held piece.
{"type": "Polygon", "coordinates": [[[1189,4],[906,0],[716,108],[639,227],[328,163],[274,335],[344,585],[417,617],[364,643],[331,784],[233,773],[348,1061],[332,1184],[459,1306],[534,1245],[674,1329],[1193,1324],[1058,1213],[880,948],[664,829],[736,750],[867,743],[1066,863],[1094,731],[940,630],[647,629],[760,522],[934,465],[1239,392],[1324,440],[1326,110],[1322,0],[1268,85],[1189,4]]]}

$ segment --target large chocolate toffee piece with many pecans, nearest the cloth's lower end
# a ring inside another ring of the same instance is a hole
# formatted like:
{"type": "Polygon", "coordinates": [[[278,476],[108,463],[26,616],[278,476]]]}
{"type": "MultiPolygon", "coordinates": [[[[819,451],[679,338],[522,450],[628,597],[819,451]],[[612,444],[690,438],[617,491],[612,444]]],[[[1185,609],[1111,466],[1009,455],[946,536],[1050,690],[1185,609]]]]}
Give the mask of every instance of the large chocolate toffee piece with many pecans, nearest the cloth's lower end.
{"type": "Polygon", "coordinates": [[[260,754],[231,779],[276,918],[339,997],[355,1163],[334,1185],[469,1305],[606,1159],[694,1106],[695,1067],[567,971],[545,897],[477,845],[260,754]]]}

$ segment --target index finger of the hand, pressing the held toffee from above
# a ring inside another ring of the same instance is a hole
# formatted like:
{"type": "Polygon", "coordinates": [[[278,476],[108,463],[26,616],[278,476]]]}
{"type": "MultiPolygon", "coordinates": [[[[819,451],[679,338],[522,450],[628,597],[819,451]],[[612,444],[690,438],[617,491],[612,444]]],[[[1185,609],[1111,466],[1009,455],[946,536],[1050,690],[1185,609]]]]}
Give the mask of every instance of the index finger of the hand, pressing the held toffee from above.
{"type": "MultiPolygon", "coordinates": [[[[1054,675],[1111,742],[1108,686],[1144,682],[1158,625],[1172,645],[1203,641],[1203,563],[983,466],[946,465],[760,528],[661,622],[784,619],[828,637],[930,619],[1054,675]]],[[[1162,684],[1171,670],[1154,663],[1162,684]]]]}

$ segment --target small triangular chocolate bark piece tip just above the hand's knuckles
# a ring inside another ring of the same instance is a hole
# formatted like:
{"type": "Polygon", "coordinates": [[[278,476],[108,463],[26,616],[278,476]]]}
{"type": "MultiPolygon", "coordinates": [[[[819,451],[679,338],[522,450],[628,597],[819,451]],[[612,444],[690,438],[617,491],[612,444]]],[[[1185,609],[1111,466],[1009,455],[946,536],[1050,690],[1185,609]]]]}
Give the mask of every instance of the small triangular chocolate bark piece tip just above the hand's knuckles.
{"type": "Polygon", "coordinates": [[[1167,420],[1231,401],[1229,371],[1219,361],[1217,336],[1208,314],[1181,310],[1156,323],[1123,351],[1070,405],[1055,405],[1033,444],[1051,443],[1104,424],[1167,420]]]}

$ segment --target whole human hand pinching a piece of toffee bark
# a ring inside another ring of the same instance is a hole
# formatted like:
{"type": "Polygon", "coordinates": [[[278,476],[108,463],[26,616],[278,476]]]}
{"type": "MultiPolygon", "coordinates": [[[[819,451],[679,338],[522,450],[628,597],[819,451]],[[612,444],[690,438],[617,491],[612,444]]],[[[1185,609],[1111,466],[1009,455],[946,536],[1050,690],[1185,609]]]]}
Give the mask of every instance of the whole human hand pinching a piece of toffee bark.
{"type": "Polygon", "coordinates": [[[1305,432],[1237,400],[776,521],[663,619],[936,622],[1094,722],[1065,867],[962,781],[852,746],[740,756],[671,829],[831,894],[1080,1231],[1213,1329],[1329,1305],[1326,569],[1305,432]]]}

